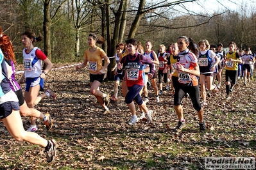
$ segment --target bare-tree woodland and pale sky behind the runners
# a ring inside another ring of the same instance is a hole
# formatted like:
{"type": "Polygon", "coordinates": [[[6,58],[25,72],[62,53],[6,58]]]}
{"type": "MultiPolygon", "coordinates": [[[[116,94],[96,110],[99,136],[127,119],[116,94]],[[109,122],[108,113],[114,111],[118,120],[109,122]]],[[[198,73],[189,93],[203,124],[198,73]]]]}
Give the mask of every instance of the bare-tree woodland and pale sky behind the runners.
{"type": "Polygon", "coordinates": [[[157,51],[160,44],[168,47],[181,35],[225,47],[234,41],[240,49],[250,46],[254,52],[254,8],[253,1],[233,0],[0,0],[0,26],[10,36],[19,63],[24,49],[21,33],[26,29],[44,36],[35,45],[53,63],[82,61],[89,33],[104,38],[100,47],[109,57],[114,56],[115,45],[128,38],[137,38],[142,45],[150,41],[157,51]]]}

